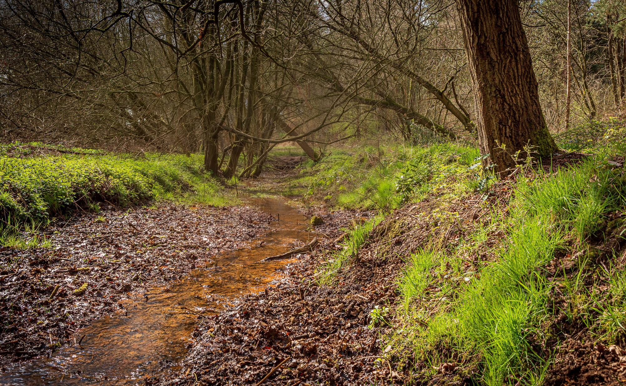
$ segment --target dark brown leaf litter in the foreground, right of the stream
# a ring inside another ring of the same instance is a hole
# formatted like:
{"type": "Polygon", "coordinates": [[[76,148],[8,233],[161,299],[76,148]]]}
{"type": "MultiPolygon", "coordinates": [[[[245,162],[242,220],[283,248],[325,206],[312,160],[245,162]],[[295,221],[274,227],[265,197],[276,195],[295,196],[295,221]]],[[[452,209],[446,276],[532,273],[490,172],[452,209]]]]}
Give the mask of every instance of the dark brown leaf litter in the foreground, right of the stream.
{"type": "Polygon", "coordinates": [[[389,366],[399,377],[395,364],[376,362],[379,329],[367,328],[370,310],[396,296],[387,287],[387,270],[319,287],[312,280],[317,257],[290,266],[290,277],[276,287],[248,295],[200,325],[183,374],[162,385],[256,384],[279,364],[264,384],[371,384],[388,375],[389,366]]]}

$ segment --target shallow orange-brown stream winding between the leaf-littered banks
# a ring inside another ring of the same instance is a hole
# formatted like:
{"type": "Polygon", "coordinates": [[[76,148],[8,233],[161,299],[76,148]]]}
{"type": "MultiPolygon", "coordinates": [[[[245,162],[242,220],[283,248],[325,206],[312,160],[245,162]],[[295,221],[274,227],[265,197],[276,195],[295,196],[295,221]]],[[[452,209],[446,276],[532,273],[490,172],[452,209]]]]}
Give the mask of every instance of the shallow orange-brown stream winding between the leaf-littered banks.
{"type": "Polygon", "coordinates": [[[120,300],[124,309],[118,315],[95,320],[74,334],[77,340],[85,335],[80,346],[66,347],[50,358],[36,357],[16,367],[7,366],[0,384],[143,385],[145,377],[178,374],[198,324],[196,315],[180,307],[217,314],[242,293],[267,287],[277,279],[276,270],[292,261],[259,260],[314,237],[306,230],[307,218],[289,207],[287,199],[247,200],[264,212],[280,214],[280,221],[270,224],[274,232],[250,240],[250,247],[218,255],[180,282],[148,290],[147,300],[120,300]],[[261,239],[263,247],[258,247],[261,239]]]}

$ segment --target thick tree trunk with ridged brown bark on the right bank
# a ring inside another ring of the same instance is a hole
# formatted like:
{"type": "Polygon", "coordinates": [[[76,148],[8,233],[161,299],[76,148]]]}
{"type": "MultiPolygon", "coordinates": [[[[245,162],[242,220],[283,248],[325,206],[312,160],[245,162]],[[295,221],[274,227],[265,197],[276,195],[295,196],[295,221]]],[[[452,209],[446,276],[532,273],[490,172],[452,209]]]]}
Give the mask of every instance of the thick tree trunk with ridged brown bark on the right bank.
{"type": "Polygon", "coordinates": [[[557,151],[546,127],[517,0],[455,0],[461,18],[476,103],[478,143],[485,165],[506,176],[513,155],[531,147],[557,151]]]}

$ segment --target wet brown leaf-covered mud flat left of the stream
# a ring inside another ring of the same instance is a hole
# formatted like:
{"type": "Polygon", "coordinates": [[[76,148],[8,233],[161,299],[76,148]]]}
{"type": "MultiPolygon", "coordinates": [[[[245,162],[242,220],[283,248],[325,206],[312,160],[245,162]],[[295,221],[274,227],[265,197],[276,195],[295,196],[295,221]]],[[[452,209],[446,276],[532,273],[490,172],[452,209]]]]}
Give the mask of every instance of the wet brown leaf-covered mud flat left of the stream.
{"type": "Polygon", "coordinates": [[[241,247],[267,232],[270,219],[252,207],[162,203],[57,222],[43,234],[52,249],[2,247],[0,364],[73,343],[74,331],[119,312],[122,297],[141,299],[146,287],[241,247]]]}

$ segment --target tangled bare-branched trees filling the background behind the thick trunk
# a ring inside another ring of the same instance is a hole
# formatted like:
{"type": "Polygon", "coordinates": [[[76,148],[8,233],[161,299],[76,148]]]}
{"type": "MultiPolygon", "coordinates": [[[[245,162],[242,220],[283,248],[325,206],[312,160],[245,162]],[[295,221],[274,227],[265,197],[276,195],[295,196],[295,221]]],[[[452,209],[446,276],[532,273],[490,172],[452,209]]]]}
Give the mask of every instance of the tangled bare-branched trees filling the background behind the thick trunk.
{"type": "MultiPolygon", "coordinates": [[[[475,141],[471,3],[4,0],[0,134],[202,151],[223,177],[258,176],[284,142],[315,159],[372,134],[475,141]]],[[[551,132],[623,106],[626,6],[488,3],[517,7],[551,132]]]]}

